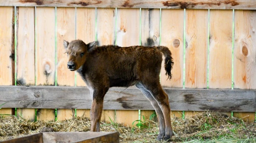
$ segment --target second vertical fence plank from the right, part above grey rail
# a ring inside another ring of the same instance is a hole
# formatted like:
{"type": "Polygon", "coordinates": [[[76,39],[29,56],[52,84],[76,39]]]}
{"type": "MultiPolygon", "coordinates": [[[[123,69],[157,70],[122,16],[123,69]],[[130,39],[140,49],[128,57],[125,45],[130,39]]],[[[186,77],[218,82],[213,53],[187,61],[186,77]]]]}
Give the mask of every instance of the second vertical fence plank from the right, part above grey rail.
{"type": "Polygon", "coordinates": [[[232,10],[210,10],[209,88],[232,85],[232,10]]]}

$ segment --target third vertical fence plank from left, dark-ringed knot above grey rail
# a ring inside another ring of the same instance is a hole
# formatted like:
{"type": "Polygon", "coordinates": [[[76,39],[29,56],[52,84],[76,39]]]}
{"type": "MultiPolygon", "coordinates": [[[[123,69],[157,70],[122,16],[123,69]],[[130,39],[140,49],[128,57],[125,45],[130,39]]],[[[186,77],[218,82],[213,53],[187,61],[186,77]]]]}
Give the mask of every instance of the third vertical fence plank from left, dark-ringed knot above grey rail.
{"type": "MultiPolygon", "coordinates": [[[[55,8],[36,7],[36,85],[55,84],[55,8]]],[[[54,109],[41,109],[38,120],[55,118],[54,109]]]]}

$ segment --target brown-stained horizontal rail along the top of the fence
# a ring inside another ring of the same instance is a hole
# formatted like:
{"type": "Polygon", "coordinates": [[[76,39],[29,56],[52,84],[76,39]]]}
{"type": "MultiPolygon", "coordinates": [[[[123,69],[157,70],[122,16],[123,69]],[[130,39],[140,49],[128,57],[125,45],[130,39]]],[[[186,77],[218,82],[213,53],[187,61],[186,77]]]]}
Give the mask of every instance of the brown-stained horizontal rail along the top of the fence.
{"type": "Polygon", "coordinates": [[[256,9],[255,0],[0,0],[0,6],[256,9]]]}

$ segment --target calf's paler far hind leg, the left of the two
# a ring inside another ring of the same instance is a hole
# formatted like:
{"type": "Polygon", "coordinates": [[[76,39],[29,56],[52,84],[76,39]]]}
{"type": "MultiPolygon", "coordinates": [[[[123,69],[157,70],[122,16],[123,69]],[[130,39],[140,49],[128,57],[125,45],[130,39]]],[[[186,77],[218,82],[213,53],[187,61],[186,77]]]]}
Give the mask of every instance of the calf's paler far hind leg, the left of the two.
{"type": "Polygon", "coordinates": [[[155,111],[157,113],[157,119],[159,122],[159,135],[157,136],[157,140],[162,140],[164,138],[165,134],[165,121],[164,121],[164,115],[162,113],[161,108],[159,107],[157,101],[153,96],[150,94],[150,92],[143,87],[143,85],[138,82],[135,84],[135,86],[142,91],[142,93],[147,97],[147,99],[150,101],[151,105],[155,108],[155,111]]]}

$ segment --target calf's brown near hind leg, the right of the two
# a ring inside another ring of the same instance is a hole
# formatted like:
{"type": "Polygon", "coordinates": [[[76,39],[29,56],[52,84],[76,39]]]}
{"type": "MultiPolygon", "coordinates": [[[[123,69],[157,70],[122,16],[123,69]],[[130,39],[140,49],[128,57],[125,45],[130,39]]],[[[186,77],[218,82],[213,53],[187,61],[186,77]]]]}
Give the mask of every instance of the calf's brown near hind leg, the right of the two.
{"type": "Polygon", "coordinates": [[[170,117],[171,109],[169,105],[168,95],[162,89],[159,81],[157,82],[149,82],[149,81],[150,80],[147,80],[147,82],[143,82],[143,86],[145,87],[145,89],[147,89],[150,92],[150,94],[157,101],[159,107],[162,110],[162,113],[164,115],[164,122],[165,122],[164,141],[167,141],[173,135],[172,128],[171,128],[171,117],[170,117]]]}

